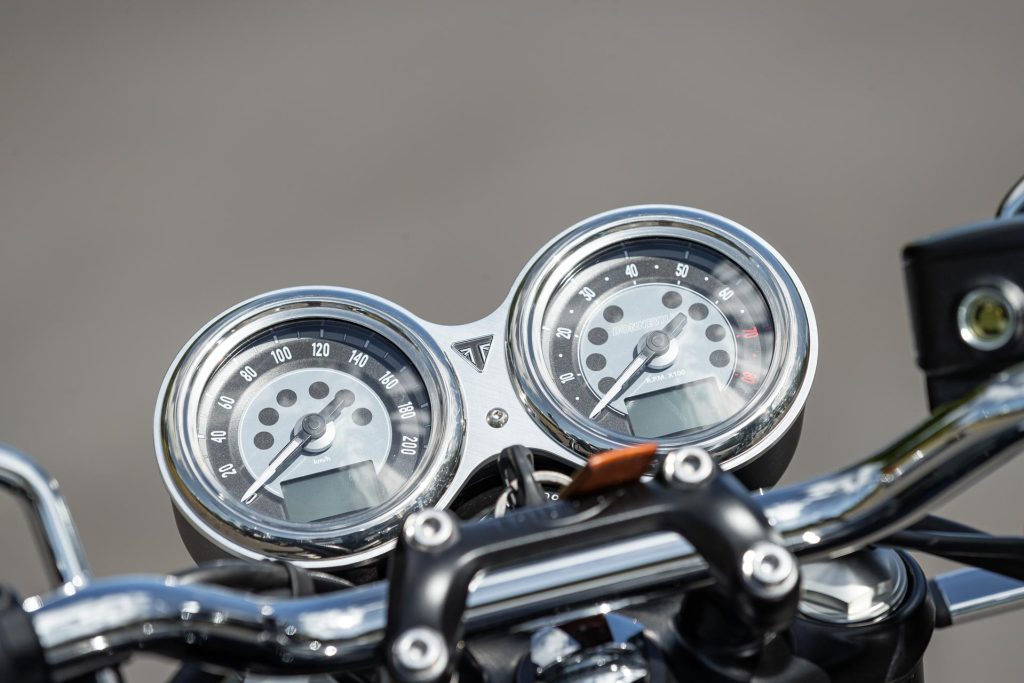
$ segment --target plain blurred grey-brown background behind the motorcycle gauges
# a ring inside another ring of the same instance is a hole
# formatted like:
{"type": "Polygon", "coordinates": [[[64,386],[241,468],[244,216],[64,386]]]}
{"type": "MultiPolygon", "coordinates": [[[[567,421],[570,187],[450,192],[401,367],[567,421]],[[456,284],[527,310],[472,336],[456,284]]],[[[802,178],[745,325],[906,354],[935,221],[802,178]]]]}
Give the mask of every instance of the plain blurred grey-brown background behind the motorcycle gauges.
{"type": "MultiPolygon", "coordinates": [[[[563,227],[670,202],[801,274],[821,355],[787,478],[849,462],[925,414],[900,246],[1024,172],[1021,26],[1020,2],[2,2],[0,439],[59,478],[97,573],[181,567],[152,411],[211,316],[334,284],[467,322],[563,227]]],[[[1022,467],[945,512],[1019,532],[1022,467]]],[[[0,577],[42,590],[0,514],[0,577]]],[[[1022,628],[938,634],[930,680],[1019,679],[1022,628]]]]}

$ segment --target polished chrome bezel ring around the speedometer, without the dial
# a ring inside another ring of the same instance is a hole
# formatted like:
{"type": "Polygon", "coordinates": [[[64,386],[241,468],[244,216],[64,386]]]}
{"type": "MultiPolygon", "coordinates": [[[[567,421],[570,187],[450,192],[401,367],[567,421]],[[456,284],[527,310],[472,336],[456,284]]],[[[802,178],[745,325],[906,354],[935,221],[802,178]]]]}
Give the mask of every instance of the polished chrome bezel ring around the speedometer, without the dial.
{"type": "Polygon", "coordinates": [[[330,287],[270,292],[207,325],[168,371],[154,429],[160,471],[171,500],[208,541],[237,557],[279,557],[316,568],[358,564],[392,549],[400,520],[410,512],[438,504],[447,492],[459,466],[464,432],[456,374],[417,318],[383,299],[330,287]],[[430,438],[413,478],[386,508],[346,516],[336,526],[311,527],[246,514],[211,483],[195,428],[203,391],[217,369],[247,340],[301,319],[343,321],[384,336],[416,367],[430,398],[430,438]]]}

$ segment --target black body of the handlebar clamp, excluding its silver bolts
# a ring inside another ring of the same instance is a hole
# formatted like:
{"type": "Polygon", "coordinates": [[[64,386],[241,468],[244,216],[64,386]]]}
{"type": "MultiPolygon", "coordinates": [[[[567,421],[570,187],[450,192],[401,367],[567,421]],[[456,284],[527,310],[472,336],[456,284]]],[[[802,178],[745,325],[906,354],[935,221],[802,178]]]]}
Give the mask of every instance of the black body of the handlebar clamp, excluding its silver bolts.
{"type": "Polygon", "coordinates": [[[384,652],[395,680],[426,683],[450,676],[474,577],[549,557],[552,548],[564,552],[652,531],[685,532],[707,560],[715,590],[738,623],[758,634],[779,632],[797,613],[799,582],[770,597],[748,588],[744,554],[758,543],[781,540],[743,484],[717,465],[700,484],[684,488],[659,477],[465,525],[449,512],[431,514],[447,516],[450,538],[433,548],[418,545],[410,532],[415,521],[411,517],[391,560],[384,652]],[[445,666],[417,675],[395,664],[393,648],[403,634],[423,629],[439,634],[447,651],[445,666]]]}

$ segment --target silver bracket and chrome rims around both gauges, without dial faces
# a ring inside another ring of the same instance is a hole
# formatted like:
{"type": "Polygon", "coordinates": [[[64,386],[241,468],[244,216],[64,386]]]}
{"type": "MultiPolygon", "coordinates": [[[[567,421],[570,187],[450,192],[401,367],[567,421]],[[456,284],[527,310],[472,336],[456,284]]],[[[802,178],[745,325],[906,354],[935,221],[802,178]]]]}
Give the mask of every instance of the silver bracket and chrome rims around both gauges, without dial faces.
{"type": "MultiPolygon", "coordinates": [[[[296,288],[271,292],[221,314],[182,349],[161,388],[155,418],[155,438],[161,474],[175,508],[184,519],[224,552],[246,558],[286,557],[300,566],[329,568],[372,560],[394,546],[398,520],[414,510],[447,505],[469,478],[511,442],[545,451],[562,463],[580,466],[585,456],[601,447],[623,445],[622,439],[591,439],[586,447],[568,438],[567,424],[540,417],[523,392],[522,346],[524,296],[532,291],[543,263],[566,248],[591,242],[605,246],[633,237],[670,234],[714,246],[745,267],[756,263],[757,283],[776,318],[775,356],[793,358],[779,365],[771,382],[756,399],[763,411],[751,413],[735,431],[723,427],[701,445],[735,467],[770,447],[797,419],[813,375],[816,339],[806,294],[784,261],[744,228],[724,218],[678,207],[636,207],[602,214],[570,228],[535,257],[516,279],[505,302],[481,321],[440,326],[422,321],[400,307],[369,294],[340,288],[296,288]],[[616,222],[617,221],[617,222],[616,222]],[[598,234],[598,232],[600,234],[598,234]],[[594,238],[594,240],[590,240],[594,238]],[[756,256],[756,260],[755,259],[756,256]],[[762,282],[764,281],[764,282],[762,282]],[[255,519],[226,501],[202,470],[193,426],[197,391],[213,372],[251,335],[300,318],[348,321],[380,333],[409,355],[430,393],[434,419],[430,467],[411,483],[409,496],[391,514],[352,520],[336,533],[309,533],[302,525],[255,519]],[[518,327],[517,327],[518,326],[518,327]],[[512,377],[510,377],[510,374],[512,377]],[[787,387],[787,388],[786,388],[787,387]],[[500,407],[497,409],[496,407],[500,407]],[[755,424],[756,422],[756,424],[755,424]],[[432,469],[430,469],[432,468],[432,469]],[[350,531],[350,532],[349,532],[350,531]]],[[[537,369],[534,369],[536,371],[537,369]]],[[[548,415],[552,415],[550,412],[548,415]]],[[[552,418],[563,420],[557,412],[552,418]]],[[[707,440],[707,439],[705,439],[707,440]]],[[[666,443],[667,447],[672,446],[666,443]]],[[[679,444],[675,444],[679,445],[679,444]]]]}

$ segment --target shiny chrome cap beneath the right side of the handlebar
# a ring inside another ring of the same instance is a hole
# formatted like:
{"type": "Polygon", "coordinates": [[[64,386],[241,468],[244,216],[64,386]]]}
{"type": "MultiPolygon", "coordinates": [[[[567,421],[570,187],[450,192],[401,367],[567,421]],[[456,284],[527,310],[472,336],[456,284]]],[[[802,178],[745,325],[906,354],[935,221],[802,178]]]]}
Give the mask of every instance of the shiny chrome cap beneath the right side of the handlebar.
{"type": "Polygon", "coordinates": [[[800,567],[800,613],[827,624],[864,624],[899,607],[908,588],[895,550],[870,548],[800,567]]]}

